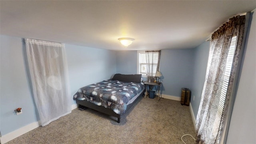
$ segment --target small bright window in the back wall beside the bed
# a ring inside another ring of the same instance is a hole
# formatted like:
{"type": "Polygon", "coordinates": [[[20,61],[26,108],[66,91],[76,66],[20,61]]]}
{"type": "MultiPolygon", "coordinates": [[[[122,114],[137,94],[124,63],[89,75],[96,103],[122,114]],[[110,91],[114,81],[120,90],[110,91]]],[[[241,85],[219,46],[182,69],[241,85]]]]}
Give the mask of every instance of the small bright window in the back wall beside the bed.
{"type": "MultiPolygon", "coordinates": [[[[137,60],[137,74],[142,74],[142,76],[147,75],[147,64],[146,64],[146,52],[145,51],[138,51],[138,60],[137,60]]],[[[156,68],[158,64],[158,52],[153,53],[153,75],[156,74],[156,68]]],[[[151,62],[152,60],[150,60],[151,62]]]]}

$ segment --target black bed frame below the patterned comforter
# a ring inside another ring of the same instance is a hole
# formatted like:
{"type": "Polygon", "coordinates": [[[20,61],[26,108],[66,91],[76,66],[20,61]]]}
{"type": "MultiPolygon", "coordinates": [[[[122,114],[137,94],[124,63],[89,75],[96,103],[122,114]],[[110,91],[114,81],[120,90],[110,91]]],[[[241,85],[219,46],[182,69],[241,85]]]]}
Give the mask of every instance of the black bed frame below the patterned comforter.
{"type": "MultiPolygon", "coordinates": [[[[145,90],[140,94],[140,96],[143,96],[144,95],[144,92],[145,90]]],[[[126,108],[126,112],[136,103],[136,101],[140,98],[140,96],[138,96],[134,102],[132,102],[131,104],[128,104],[127,105],[127,108],[126,108]]],[[[98,112],[102,112],[104,114],[108,114],[110,116],[114,116],[116,117],[118,120],[117,122],[120,123],[120,119],[121,119],[121,115],[120,114],[116,114],[112,109],[110,108],[105,108],[104,106],[98,106],[96,104],[93,104],[91,102],[88,102],[87,100],[76,100],[76,104],[78,104],[78,107],[79,105],[82,105],[82,106],[85,106],[87,108],[91,108],[93,110],[96,110],[98,112]]]]}

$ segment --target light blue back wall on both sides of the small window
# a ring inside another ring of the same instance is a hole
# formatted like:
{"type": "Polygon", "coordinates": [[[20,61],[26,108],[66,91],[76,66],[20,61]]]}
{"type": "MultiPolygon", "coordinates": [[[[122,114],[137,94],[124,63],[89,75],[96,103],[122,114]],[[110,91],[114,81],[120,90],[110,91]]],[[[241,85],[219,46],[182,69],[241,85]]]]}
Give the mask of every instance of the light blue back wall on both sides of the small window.
{"type": "MultiPolygon", "coordinates": [[[[137,52],[116,53],[117,73],[137,72],[137,52]]],[[[180,97],[182,87],[192,87],[194,49],[166,49],[161,52],[160,71],[163,94],[180,97]]]]}

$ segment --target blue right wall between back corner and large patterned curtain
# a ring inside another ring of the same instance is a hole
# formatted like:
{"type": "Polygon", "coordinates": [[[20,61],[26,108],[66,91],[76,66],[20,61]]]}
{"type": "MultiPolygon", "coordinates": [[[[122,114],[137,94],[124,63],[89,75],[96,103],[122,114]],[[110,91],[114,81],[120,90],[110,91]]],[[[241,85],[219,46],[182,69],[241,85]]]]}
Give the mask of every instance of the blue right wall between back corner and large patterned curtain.
{"type": "Polygon", "coordinates": [[[193,81],[191,88],[191,106],[194,112],[194,116],[196,118],[202,90],[204,87],[204,80],[206,74],[206,67],[208,62],[208,55],[210,49],[210,42],[204,42],[197,48],[195,48],[195,60],[194,60],[194,72],[193,72],[193,81]],[[195,96],[194,100],[193,97],[195,96]]]}

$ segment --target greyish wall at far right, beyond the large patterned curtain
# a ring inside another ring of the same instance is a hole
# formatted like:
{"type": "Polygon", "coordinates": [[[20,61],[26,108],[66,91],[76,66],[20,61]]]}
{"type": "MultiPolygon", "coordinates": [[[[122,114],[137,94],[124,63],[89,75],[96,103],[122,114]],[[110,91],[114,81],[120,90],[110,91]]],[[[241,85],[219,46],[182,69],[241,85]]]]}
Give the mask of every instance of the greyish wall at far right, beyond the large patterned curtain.
{"type": "Polygon", "coordinates": [[[230,120],[227,144],[256,142],[256,9],[251,13],[248,39],[242,64],[236,100],[230,120]]]}

